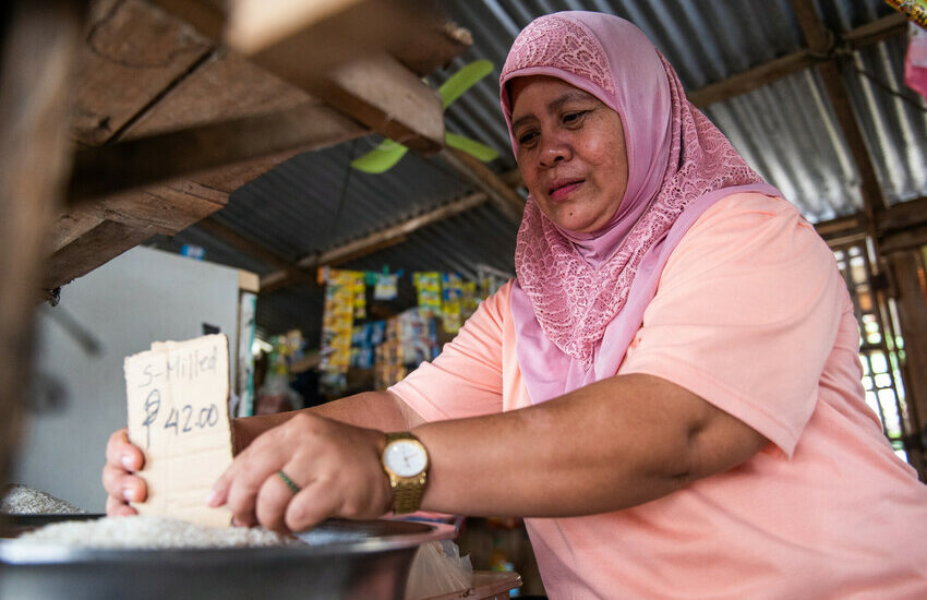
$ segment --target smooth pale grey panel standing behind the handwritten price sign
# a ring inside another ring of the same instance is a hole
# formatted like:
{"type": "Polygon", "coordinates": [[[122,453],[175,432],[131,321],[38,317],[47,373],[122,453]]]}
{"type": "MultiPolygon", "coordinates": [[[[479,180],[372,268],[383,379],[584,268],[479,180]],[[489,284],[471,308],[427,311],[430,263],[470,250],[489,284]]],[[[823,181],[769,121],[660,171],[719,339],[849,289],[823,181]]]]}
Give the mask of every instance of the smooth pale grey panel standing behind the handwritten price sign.
{"type": "Polygon", "coordinates": [[[106,441],[125,425],[123,358],[152,341],[197,337],[203,323],[236,348],[238,280],[237,269],[140,247],[64,286],[59,307],[39,310],[35,371],[67,397],[27,415],[11,481],[103,512],[106,441]],[[97,353],[77,343],[69,322],[96,339],[97,353]]]}

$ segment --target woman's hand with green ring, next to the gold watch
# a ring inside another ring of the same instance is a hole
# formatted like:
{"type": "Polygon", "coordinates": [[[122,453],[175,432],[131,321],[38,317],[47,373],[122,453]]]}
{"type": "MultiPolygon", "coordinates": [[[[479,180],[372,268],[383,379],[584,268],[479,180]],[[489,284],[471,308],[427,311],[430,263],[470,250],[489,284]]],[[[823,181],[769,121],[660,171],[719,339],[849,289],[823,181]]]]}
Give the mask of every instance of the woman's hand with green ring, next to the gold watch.
{"type": "Polygon", "coordinates": [[[238,455],[207,503],[228,505],[236,525],[260,523],[280,532],[305,530],[328,517],[380,517],[393,501],[380,461],[384,441],[382,431],[302,412],[238,455]]]}

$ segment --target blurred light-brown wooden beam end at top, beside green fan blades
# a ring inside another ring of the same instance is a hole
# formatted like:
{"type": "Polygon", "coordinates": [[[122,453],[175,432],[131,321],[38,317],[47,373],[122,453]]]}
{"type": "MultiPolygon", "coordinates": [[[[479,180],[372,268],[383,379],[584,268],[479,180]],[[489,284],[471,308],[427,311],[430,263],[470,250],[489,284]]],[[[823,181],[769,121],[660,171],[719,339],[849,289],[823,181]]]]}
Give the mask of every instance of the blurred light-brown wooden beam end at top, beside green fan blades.
{"type": "MultiPolygon", "coordinates": [[[[166,3],[195,19],[201,2],[166,3]]],[[[444,147],[441,98],[389,53],[414,49],[409,39],[435,32],[431,2],[240,0],[227,21],[222,40],[255,64],[414,152],[444,147]]],[[[210,20],[206,27],[215,31],[210,20]]],[[[445,32],[441,39],[447,38],[445,32]]]]}

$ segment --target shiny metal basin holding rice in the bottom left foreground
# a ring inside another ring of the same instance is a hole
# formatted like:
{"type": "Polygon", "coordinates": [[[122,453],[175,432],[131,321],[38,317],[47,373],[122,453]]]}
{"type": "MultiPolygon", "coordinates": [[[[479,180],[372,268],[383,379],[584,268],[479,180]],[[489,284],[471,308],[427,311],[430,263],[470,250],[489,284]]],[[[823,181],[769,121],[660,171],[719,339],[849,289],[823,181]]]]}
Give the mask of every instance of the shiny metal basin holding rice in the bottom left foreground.
{"type": "Polygon", "coordinates": [[[25,549],[0,540],[0,598],[399,599],[418,547],[455,535],[450,525],[328,520],[300,535],[306,545],[280,548],[25,549]]]}

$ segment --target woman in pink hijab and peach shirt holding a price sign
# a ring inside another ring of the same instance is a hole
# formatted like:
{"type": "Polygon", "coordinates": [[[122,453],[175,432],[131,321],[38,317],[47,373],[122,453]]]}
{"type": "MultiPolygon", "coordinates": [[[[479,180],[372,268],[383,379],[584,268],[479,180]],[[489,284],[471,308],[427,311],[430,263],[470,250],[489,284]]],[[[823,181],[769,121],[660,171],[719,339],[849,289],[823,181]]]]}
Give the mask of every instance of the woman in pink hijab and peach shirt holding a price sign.
{"type": "MultiPolygon", "coordinates": [[[[408,506],[380,460],[411,431],[421,507],[527,517],[552,598],[924,598],[927,491],[863,401],[827,244],[618,17],[535,20],[499,83],[517,279],[388,392],[237,420],[210,504],[278,530],[408,506]]],[[[107,456],[131,513],[141,455],[107,456]]]]}

